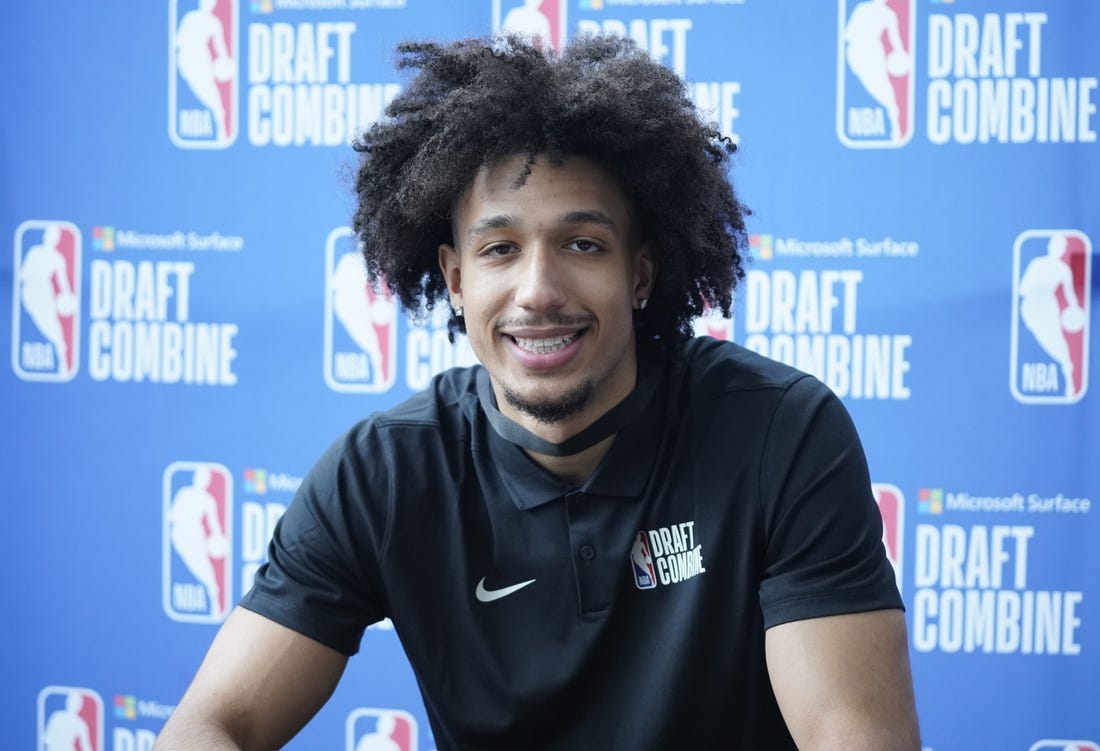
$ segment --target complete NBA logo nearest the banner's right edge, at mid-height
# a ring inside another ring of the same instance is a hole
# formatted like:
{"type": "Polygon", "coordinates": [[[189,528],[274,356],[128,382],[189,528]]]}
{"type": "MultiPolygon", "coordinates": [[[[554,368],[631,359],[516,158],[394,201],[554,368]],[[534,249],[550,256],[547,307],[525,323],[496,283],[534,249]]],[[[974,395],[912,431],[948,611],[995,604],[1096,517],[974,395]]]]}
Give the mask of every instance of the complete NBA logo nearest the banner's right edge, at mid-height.
{"type": "Polygon", "coordinates": [[[1078,230],[1028,230],[1012,258],[1012,396],[1079,401],[1089,386],[1092,245],[1078,230]]]}

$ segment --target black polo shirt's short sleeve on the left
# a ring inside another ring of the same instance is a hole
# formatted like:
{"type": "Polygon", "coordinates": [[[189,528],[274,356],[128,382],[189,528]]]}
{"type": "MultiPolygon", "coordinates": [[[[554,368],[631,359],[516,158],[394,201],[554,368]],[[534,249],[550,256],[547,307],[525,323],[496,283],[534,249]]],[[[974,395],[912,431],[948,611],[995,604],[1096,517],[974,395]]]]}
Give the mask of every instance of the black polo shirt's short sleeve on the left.
{"type": "Polygon", "coordinates": [[[359,651],[363,631],[386,612],[377,574],[388,498],[383,452],[360,427],[321,456],[276,524],[242,607],[343,654],[359,651]]]}

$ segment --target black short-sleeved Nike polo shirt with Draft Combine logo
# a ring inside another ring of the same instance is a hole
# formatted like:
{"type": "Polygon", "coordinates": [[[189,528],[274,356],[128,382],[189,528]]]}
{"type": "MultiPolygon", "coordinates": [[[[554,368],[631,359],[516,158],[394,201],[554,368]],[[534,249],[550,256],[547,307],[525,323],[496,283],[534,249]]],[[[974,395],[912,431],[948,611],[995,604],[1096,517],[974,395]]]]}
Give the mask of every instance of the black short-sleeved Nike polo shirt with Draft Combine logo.
{"type": "Polygon", "coordinates": [[[736,344],[644,366],[581,487],[438,376],[321,457],[242,605],[345,654],[392,618],[439,749],[793,749],[765,629],[901,607],[856,431],[736,344]]]}

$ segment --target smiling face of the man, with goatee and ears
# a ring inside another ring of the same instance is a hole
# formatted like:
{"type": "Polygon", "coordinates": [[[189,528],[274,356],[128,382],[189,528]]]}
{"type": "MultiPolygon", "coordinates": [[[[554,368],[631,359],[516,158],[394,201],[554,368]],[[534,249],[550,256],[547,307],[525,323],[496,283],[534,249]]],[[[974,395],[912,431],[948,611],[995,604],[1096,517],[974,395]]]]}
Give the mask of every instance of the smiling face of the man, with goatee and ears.
{"type": "MultiPolygon", "coordinates": [[[[632,309],[653,264],[616,180],[584,158],[479,170],[439,262],[501,410],[559,440],[634,388],[632,309]]],[[[551,440],[553,440],[551,438],[551,440]]]]}

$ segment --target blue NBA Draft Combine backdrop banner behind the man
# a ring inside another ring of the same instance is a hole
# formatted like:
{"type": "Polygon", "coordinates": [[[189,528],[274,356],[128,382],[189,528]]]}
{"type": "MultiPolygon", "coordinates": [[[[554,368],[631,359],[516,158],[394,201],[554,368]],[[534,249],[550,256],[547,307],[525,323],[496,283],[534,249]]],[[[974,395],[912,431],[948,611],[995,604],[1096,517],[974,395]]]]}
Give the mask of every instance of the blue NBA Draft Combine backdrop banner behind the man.
{"type": "MultiPolygon", "coordinates": [[[[348,142],[397,42],[507,27],[637,40],[740,145],[752,263],[698,333],[851,411],[925,748],[1100,751],[1100,3],[2,15],[6,748],[147,750],[319,453],[473,362],[365,289],[348,142]]],[[[435,748],[388,623],[289,748],[435,748]]]]}

